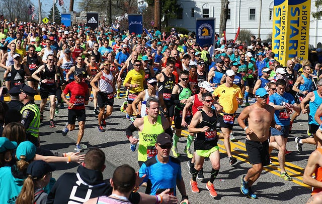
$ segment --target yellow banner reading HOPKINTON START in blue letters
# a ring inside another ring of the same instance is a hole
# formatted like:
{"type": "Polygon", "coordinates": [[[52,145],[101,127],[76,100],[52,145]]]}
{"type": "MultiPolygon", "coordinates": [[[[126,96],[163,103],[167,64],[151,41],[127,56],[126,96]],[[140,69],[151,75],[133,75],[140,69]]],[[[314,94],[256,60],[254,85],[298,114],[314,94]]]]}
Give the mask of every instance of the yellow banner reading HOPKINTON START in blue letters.
{"type": "Polygon", "coordinates": [[[275,0],[272,51],[283,66],[294,57],[308,58],[311,1],[275,0]]]}

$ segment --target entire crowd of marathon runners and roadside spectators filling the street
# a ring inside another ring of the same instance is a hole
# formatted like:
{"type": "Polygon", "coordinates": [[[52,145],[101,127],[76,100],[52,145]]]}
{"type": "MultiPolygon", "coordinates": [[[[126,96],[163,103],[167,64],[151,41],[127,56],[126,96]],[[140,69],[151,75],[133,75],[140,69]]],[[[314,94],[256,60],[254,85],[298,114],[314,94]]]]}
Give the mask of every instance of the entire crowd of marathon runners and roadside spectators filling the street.
{"type": "Polygon", "coordinates": [[[248,43],[215,38],[214,45],[199,45],[194,32],[183,35],[176,29],[167,34],[157,28],[135,34],[104,25],[93,29],[83,24],[2,22],[0,67],[5,74],[0,92],[2,96],[8,92],[10,102],[0,107],[0,185],[9,183],[10,190],[1,190],[0,202],[177,203],[178,187],[181,203],[189,203],[186,190],[200,192],[197,178],[204,178],[205,158],[212,166],[205,187],[215,197],[219,139],[228,156],[223,162],[237,161],[230,148],[235,119],[246,132],[252,164],[246,175],[240,175],[240,191],[254,199],[252,185],[263,167],[270,165],[273,149],[278,150],[281,179],[292,180],[284,167],[285,155],[300,113],[308,115],[309,129],[306,138],[295,138],[296,148],[301,152],[303,143],[317,148],[303,176],[304,183],[314,187],[316,198],[309,201],[316,202],[322,190],[322,50],[316,49],[309,60],[295,57],[281,65],[272,44],[260,38],[252,36],[248,43]],[[106,183],[104,152],[97,148],[86,155],[79,152],[87,148],[81,144],[85,107],[91,106],[98,115],[98,134],[105,134],[114,100],[124,101],[124,120],[131,121],[124,135],[129,148],[138,152],[140,168],[136,175],[132,167],[122,165],[106,183]],[[62,135],[72,134],[77,119],[75,152],[42,149],[40,124],[49,118],[50,128],[55,128],[55,115],[66,106],[62,135]],[[176,159],[183,156],[178,151],[183,129],[189,132],[184,153],[189,158],[190,187],[176,159]],[[84,162],[78,174],[65,173],[50,185],[55,167],[47,162],[56,161],[84,162]],[[146,194],[135,192],[140,184],[146,186],[146,194]]]}

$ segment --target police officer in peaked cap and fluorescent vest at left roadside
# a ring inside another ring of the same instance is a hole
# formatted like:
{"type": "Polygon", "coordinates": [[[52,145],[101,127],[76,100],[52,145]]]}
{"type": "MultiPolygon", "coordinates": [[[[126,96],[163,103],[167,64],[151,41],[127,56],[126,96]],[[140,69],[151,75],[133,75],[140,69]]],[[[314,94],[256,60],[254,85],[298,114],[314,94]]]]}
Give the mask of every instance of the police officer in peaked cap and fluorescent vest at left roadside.
{"type": "Polygon", "coordinates": [[[26,84],[21,85],[19,100],[24,104],[24,107],[20,111],[22,114],[21,123],[26,129],[26,139],[39,147],[40,111],[34,102],[34,96],[36,94],[37,92],[30,86],[26,84]]]}

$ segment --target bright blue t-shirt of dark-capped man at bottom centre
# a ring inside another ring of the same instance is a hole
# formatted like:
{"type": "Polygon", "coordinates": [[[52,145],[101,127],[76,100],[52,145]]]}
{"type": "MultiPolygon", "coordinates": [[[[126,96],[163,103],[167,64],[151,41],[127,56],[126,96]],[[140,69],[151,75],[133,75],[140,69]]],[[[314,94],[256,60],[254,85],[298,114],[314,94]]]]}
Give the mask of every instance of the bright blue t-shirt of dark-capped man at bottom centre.
{"type": "Polygon", "coordinates": [[[181,165],[180,161],[172,156],[169,156],[168,163],[161,163],[156,156],[145,161],[140,170],[139,176],[146,174],[143,182],[147,179],[151,180],[151,195],[156,195],[170,188],[170,193],[176,196],[177,180],[181,180],[181,165]]]}

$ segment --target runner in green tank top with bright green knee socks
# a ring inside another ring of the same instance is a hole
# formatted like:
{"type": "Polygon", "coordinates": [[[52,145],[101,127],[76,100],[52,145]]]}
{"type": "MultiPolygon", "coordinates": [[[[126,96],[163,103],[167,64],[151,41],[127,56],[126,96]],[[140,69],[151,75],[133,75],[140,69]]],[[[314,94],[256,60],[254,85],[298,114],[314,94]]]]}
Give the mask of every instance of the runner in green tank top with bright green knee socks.
{"type": "MultiPolygon", "coordinates": [[[[178,153],[177,143],[179,138],[181,137],[181,121],[182,121],[182,111],[185,107],[188,98],[191,96],[191,88],[189,86],[189,72],[186,70],[183,70],[180,72],[180,82],[179,84],[176,84],[173,88],[171,99],[173,103],[176,105],[175,107],[175,128],[176,128],[176,134],[173,140],[173,148],[172,152],[174,157],[180,156],[178,153]]],[[[187,116],[185,118],[187,124],[190,123],[191,120],[191,111],[187,111],[187,116]]],[[[187,139],[187,146],[185,148],[185,151],[187,152],[187,149],[189,149],[191,143],[192,143],[193,137],[188,137],[187,139]]],[[[189,150],[190,151],[190,150],[189,150]]],[[[188,152],[189,152],[188,151],[188,152]]],[[[191,152],[189,152],[191,153],[191,152]]],[[[188,153],[187,153],[188,154],[188,153]]]]}

